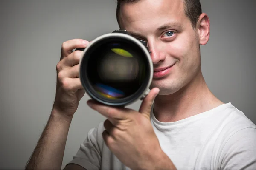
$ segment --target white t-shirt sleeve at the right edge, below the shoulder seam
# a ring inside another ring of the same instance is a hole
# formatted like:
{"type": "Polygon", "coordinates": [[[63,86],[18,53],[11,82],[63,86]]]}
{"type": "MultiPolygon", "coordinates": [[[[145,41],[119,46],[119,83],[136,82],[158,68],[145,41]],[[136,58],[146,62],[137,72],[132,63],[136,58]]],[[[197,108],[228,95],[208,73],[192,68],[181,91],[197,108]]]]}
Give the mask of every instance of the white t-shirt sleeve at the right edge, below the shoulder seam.
{"type": "Polygon", "coordinates": [[[256,128],[234,133],[221,154],[221,170],[256,170],[256,128]]]}

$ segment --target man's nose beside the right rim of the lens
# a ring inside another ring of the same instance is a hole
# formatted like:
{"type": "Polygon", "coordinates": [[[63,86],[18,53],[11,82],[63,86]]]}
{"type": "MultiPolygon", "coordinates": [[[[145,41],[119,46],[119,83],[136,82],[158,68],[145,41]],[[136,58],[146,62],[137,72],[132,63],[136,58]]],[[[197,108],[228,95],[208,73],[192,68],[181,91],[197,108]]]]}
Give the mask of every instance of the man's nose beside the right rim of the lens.
{"type": "Polygon", "coordinates": [[[156,43],[148,42],[148,49],[151,54],[151,59],[154,65],[159,64],[166,58],[164,51],[157,46],[156,43]]]}

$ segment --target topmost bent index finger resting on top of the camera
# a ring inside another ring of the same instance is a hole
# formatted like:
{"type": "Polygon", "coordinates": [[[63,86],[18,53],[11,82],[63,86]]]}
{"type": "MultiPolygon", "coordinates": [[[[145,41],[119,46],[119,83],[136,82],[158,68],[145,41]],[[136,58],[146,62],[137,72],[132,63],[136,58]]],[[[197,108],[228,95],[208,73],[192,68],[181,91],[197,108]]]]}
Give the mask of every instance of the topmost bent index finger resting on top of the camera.
{"type": "Polygon", "coordinates": [[[61,59],[67,57],[75,48],[86,48],[90,42],[83,39],[73,39],[62,43],[61,59]]]}

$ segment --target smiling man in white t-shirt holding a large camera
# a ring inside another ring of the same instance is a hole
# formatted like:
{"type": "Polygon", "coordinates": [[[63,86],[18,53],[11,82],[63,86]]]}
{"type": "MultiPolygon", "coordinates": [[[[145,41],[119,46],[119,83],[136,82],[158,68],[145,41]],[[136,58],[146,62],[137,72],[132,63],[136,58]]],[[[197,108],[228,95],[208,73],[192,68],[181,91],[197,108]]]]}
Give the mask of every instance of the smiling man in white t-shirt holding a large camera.
{"type": "MultiPolygon", "coordinates": [[[[65,170],[256,169],[256,125],[207,88],[200,45],[209,17],[199,0],[118,0],[121,29],[148,42],[154,64],[151,92],[140,110],[89,100],[107,120],[89,131],[65,170]],[[154,103],[153,103],[154,101],[154,103]]],[[[67,133],[84,95],[78,78],[86,40],[62,44],[51,116],[27,169],[61,169],[67,133]]]]}

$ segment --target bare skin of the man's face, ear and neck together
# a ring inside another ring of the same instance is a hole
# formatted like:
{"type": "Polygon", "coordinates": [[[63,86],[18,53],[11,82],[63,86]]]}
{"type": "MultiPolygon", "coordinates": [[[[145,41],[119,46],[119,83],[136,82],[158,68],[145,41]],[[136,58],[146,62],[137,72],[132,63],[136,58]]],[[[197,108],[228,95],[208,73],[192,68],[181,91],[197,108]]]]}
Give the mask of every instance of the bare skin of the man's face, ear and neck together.
{"type": "Polygon", "coordinates": [[[154,115],[161,122],[185,119],[223,104],[211,93],[201,72],[200,45],[209,40],[209,17],[201,14],[193,28],[183,9],[183,0],[142,0],[121,6],[122,29],[148,42],[154,68],[175,63],[169,74],[153,78],[151,84],[151,88],[160,88],[154,115]],[[168,27],[158,30],[162,26],[168,27]]]}

